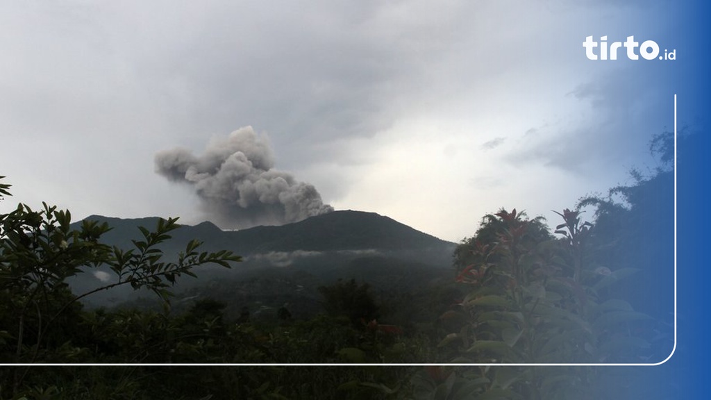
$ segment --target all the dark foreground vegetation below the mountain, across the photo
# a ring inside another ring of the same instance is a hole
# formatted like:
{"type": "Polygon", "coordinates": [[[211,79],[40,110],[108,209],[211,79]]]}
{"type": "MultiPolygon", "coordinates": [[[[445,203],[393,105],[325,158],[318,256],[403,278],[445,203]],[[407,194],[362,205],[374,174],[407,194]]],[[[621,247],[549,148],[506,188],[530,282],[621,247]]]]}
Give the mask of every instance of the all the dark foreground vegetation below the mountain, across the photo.
{"type": "MultiPolygon", "coordinates": [[[[626,398],[614,379],[631,387],[632,377],[594,367],[286,364],[663,361],[673,346],[670,140],[653,140],[660,166],[649,176],[634,172],[634,184],[560,211],[552,233],[540,218],[501,209],[457,246],[449,280],[413,267],[410,280],[388,279],[388,290],[365,271],[397,263],[359,258],[343,280],[310,294],[309,312],[294,312],[288,294],[323,283],[304,270],[289,280],[264,270],[237,288],[218,280],[173,298],[181,275],[241,260],[200,251],[198,241],[164,253],[179,232],[176,219],[108,246],[105,221],[72,224],[69,211],[20,204],[0,215],[0,362],[20,364],[0,370],[0,399],[626,398]],[[112,280],[84,292],[70,287],[97,270],[112,280]],[[154,293],[157,306],[83,304],[119,286],[154,293]],[[247,307],[255,304],[249,293],[260,291],[284,297],[278,307],[247,307]],[[132,365],[35,365],[55,363],[132,365]],[[225,363],[250,365],[145,365],[225,363]]],[[[10,196],[9,188],[1,183],[0,194],[10,196]]]]}

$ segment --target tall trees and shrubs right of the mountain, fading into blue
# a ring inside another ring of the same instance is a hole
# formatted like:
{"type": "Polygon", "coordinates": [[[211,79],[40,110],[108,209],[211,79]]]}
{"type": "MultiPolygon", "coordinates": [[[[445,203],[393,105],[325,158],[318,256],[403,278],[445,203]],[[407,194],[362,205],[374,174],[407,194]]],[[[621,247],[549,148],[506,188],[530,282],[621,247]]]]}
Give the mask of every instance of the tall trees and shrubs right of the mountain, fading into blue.
{"type": "MultiPolygon", "coordinates": [[[[557,239],[515,209],[485,216],[476,236],[456,249],[457,280],[471,289],[442,315],[449,334],[439,348],[453,361],[495,364],[655,363],[668,357],[670,140],[668,133],[653,139],[661,166],[651,177],[633,172],[634,185],[613,188],[607,197],[588,196],[577,209],[557,213],[563,220],[557,239]],[[586,206],[596,207],[594,225],[582,220],[586,206]],[[640,306],[645,312],[636,310],[640,306]]],[[[442,399],[625,398],[614,393],[631,386],[623,376],[625,384],[613,384],[609,369],[594,367],[481,367],[444,369],[429,384],[446,393],[442,399]]]]}

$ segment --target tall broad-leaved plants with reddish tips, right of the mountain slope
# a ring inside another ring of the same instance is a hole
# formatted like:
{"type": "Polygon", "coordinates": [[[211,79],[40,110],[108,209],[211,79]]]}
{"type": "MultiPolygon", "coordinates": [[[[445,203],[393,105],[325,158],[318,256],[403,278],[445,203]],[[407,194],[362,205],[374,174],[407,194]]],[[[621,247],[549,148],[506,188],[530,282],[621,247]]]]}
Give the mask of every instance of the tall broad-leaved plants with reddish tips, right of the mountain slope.
{"type": "MultiPolygon", "coordinates": [[[[537,220],[514,209],[501,210],[494,241],[469,241],[469,265],[457,280],[469,294],[442,320],[454,332],[439,346],[454,360],[472,363],[539,364],[640,362],[649,347],[639,335],[649,317],[629,302],[606,298],[606,288],[635,271],[611,271],[589,263],[587,238],[594,226],[580,211],[566,209],[555,233],[545,239],[532,234],[537,220]]],[[[487,231],[480,228],[480,232],[487,231]]],[[[489,236],[491,238],[491,236],[489,236]]],[[[469,381],[482,398],[570,398],[594,387],[593,369],[572,367],[482,367],[469,381]]],[[[473,374],[473,375],[472,375],[473,374]]],[[[462,376],[464,377],[464,376],[462,376]]]]}

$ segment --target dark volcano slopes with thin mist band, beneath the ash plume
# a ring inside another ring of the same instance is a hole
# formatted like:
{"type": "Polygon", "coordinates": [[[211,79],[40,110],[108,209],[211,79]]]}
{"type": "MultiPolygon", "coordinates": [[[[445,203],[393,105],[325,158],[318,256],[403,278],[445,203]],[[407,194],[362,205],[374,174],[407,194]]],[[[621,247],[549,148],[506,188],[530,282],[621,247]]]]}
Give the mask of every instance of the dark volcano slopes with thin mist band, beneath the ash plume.
{"type": "MultiPolygon", "coordinates": [[[[139,226],[150,229],[158,220],[106,216],[87,219],[109,223],[113,228],[105,235],[105,243],[122,248],[129,248],[132,239],[141,237],[139,226]]],[[[228,309],[237,309],[255,299],[262,307],[277,307],[289,299],[292,304],[309,304],[309,312],[319,298],[318,286],[338,279],[355,278],[380,290],[390,285],[397,292],[405,292],[448,277],[456,246],[387,216],[363,211],[333,211],[284,226],[240,231],[222,231],[205,221],[181,226],[171,236],[162,246],[167,258],[173,258],[193,238],[203,241],[203,251],[229,250],[243,258],[232,270],[200,268],[196,271],[198,279],[185,278],[178,283],[178,298],[209,295],[229,304],[240,303],[228,309]]],[[[73,280],[75,291],[101,284],[93,275],[84,275],[73,280]]],[[[151,297],[119,288],[92,295],[87,304],[117,305],[140,296],[151,297]]]]}

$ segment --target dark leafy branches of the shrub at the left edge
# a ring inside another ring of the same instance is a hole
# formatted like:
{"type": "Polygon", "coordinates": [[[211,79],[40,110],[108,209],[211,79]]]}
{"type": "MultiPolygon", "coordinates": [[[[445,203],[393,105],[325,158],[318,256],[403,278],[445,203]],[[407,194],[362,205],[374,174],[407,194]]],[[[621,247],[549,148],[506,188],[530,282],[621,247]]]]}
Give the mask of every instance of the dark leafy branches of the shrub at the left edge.
{"type": "MultiPolygon", "coordinates": [[[[11,196],[10,187],[0,184],[0,195],[11,196]]],[[[193,268],[209,263],[230,268],[241,260],[230,251],[198,251],[202,243],[197,240],[190,241],[176,261],[164,260],[160,246],[180,227],[176,221],[159,219],[154,231],[139,227],[143,237],[132,241],[134,248],[124,250],[101,243],[102,236],[111,230],[108,223],[85,220],[73,228],[68,210],[46,203],[40,211],[18,204],[9,214],[0,214],[0,297],[18,310],[14,326],[0,331],[2,337],[16,332],[14,360],[6,361],[37,362],[41,348],[48,347],[48,332],[70,307],[89,295],[131,285],[134,290],[149,289],[169,302],[169,288],[182,275],[195,277],[193,268]],[[106,266],[117,282],[79,295],[71,293],[68,278],[106,266]],[[28,324],[35,328],[33,337],[28,337],[28,324]]],[[[15,374],[14,387],[21,384],[27,371],[15,374]]]]}

